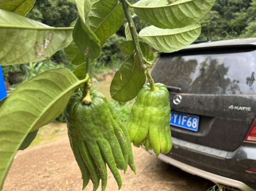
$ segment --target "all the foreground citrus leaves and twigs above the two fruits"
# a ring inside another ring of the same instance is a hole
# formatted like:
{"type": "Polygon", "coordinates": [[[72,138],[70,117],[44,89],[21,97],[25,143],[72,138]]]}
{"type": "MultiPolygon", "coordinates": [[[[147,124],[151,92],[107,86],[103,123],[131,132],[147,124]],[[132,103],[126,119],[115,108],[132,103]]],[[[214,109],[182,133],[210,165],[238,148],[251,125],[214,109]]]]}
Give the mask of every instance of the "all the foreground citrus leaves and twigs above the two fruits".
{"type": "Polygon", "coordinates": [[[200,34],[198,21],[214,4],[214,0],[75,2],[79,17],[70,27],[53,27],[24,17],[35,0],[0,1],[0,65],[42,61],[65,48],[67,59],[78,66],[73,72],[58,68],[40,73],[22,83],[1,104],[0,190],[26,136],[63,113],[74,92],[88,85],[93,62],[124,18],[128,21],[127,41],[120,48],[129,57],[110,87],[112,98],[121,102],[136,97],[146,78],[154,83],[148,71],[154,59],[150,47],[174,52],[188,46],[200,34]],[[137,33],[132,13],[149,26],[137,33]]]}

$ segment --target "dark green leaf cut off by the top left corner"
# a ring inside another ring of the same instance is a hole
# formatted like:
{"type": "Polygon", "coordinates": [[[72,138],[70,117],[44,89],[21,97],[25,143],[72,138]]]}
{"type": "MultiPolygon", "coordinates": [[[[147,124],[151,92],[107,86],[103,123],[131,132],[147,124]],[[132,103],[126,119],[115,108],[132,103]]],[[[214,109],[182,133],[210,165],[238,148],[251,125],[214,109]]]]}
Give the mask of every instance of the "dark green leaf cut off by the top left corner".
{"type": "Polygon", "coordinates": [[[35,2],[36,0],[2,0],[0,1],[0,9],[25,16],[32,9],[35,2]]]}

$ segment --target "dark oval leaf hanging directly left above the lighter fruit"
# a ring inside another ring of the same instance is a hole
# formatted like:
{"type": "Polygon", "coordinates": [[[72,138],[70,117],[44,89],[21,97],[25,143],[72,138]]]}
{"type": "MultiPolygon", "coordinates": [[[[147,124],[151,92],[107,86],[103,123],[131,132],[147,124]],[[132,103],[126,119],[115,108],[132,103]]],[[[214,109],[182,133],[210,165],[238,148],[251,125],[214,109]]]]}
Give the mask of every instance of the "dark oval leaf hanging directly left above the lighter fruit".
{"type": "Polygon", "coordinates": [[[124,61],[111,82],[111,97],[121,102],[130,101],[137,96],[145,81],[146,76],[140,67],[139,58],[131,55],[124,61]]]}

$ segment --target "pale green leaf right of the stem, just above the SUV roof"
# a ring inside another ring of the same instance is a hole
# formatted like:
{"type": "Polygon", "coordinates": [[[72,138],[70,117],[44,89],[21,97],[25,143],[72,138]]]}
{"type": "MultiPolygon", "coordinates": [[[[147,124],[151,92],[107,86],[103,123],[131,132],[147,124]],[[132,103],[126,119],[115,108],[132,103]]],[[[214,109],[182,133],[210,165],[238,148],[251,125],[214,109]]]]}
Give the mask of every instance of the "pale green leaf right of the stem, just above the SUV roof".
{"type": "Polygon", "coordinates": [[[148,26],[142,29],[139,37],[161,52],[174,52],[194,42],[201,32],[200,23],[177,29],[161,29],[148,26]]]}

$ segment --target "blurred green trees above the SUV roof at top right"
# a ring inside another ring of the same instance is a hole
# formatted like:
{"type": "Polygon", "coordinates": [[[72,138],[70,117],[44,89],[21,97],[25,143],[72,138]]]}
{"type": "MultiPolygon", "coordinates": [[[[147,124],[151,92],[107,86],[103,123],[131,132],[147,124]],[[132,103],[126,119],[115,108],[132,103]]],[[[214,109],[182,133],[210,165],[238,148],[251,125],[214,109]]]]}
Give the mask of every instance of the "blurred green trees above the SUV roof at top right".
{"type": "Polygon", "coordinates": [[[256,0],[216,0],[200,22],[199,40],[256,37],[256,0]]]}

